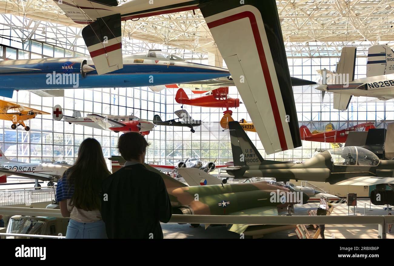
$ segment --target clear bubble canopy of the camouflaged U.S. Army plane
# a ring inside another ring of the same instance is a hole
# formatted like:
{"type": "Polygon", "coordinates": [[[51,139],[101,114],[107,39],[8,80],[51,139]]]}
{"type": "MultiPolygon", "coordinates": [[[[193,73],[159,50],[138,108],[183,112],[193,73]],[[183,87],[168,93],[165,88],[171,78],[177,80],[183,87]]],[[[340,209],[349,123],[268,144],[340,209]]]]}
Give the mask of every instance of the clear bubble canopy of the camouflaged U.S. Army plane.
{"type": "Polygon", "coordinates": [[[335,165],[344,166],[377,166],[379,158],[362,147],[349,146],[331,149],[331,161],[335,165]]]}

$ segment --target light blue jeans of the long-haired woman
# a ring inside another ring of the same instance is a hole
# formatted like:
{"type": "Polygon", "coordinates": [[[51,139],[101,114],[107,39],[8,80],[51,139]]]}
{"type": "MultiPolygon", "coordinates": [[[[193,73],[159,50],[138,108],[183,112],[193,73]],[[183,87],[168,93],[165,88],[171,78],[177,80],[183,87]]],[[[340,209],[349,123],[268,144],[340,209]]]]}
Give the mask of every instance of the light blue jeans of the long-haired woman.
{"type": "Polygon", "coordinates": [[[66,238],[107,238],[105,223],[102,220],[93,223],[80,223],[70,219],[66,238]]]}

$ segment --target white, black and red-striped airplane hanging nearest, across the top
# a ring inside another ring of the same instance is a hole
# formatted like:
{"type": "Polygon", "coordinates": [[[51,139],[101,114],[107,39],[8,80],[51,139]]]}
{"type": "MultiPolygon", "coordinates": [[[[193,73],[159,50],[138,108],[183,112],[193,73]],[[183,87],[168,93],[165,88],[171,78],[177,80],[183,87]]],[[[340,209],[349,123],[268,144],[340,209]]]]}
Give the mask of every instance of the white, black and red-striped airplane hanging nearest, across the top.
{"type": "MultiPolygon", "coordinates": [[[[99,75],[121,71],[124,67],[121,21],[200,9],[266,153],[301,146],[292,80],[275,0],[245,3],[239,0],[133,0],[120,5],[115,0],[62,0],[56,4],[74,22],[87,24],[82,37],[99,75]]],[[[171,62],[168,67],[171,69],[171,62]]],[[[142,76],[142,80],[149,75],[152,73],[142,76]]],[[[160,79],[160,75],[152,76],[160,79]]],[[[225,76],[230,75],[223,73],[222,77],[225,76]]],[[[212,78],[220,76],[202,78],[199,75],[196,81],[212,78]]],[[[186,82],[160,81],[161,85],[186,82]]]]}

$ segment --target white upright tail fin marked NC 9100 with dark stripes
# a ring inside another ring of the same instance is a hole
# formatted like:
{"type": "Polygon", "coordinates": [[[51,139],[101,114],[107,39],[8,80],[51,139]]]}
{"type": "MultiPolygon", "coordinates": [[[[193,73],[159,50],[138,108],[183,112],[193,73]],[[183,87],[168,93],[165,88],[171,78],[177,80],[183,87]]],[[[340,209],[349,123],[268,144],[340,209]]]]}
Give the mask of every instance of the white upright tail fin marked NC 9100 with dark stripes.
{"type": "Polygon", "coordinates": [[[368,49],[367,77],[394,73],[394,51],[387,45],[374,45],[368,49]]]}

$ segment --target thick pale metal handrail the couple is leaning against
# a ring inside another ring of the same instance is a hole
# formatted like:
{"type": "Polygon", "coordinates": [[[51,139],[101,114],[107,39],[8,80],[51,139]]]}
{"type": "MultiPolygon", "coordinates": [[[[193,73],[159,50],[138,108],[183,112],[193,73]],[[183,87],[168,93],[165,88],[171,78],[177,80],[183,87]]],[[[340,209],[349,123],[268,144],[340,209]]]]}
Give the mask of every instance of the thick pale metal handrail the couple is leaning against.
{"type": "MultiPolygon", "coordinates": [[[[48,216],[62,218],[60,210],[22,207],[0,207],[6,215],[48,216]]],[[[291,224],[377,224],[378,238],[386,238],[386,225],[394,224],[393,215],[356,216],[247,216],[247,215],[184,215],[173,214],[169,223],[203,224],[249,224],[249,225],[291,225],[291,224]]]]}

